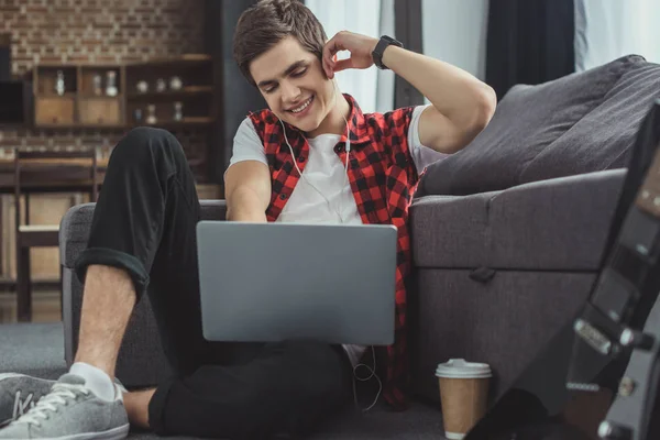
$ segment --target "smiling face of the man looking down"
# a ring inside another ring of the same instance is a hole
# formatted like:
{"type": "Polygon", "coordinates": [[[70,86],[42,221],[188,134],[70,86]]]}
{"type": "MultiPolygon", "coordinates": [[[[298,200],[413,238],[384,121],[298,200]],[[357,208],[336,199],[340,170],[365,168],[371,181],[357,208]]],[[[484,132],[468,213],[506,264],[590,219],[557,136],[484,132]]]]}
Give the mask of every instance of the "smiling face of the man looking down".
{"type": "Polygon", "coordinates": [[[328,79],[319,58],[287,36],[250,63],[250,74],[268,108],[284,122],[315,136],[331,132],[336,102],[332,80],[328,79]]]}

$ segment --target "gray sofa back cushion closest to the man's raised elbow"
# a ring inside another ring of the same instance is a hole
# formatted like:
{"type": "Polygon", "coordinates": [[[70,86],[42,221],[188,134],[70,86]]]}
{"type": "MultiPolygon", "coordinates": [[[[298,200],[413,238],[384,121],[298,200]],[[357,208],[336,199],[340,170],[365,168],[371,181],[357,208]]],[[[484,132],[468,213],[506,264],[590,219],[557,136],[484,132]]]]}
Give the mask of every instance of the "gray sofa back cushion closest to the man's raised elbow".
{"type": "MultiPolygon", "coordinates": [[[[648,63],[642,57],[626,56],[542,85],[515,86],[498,103],[488,127],[470,145],[428,167],[418,195],[493,191],[556,176],[552,173],[535,174],[536,167],[527,168],[549,145],[601,106],[626,73],[645,66],[648,63]],[[521,177],[525,172],[526,180],[521,177]]],[[[581,146],[574,144],[573,148],[580,152],[581,146]]],[[[564,165],[571,169],[566,164],[574,161],[573,156],[563,150],[561,154],[548,154],[544,163],[558,162],[552,169],[563,169],[564,165]]],[[[607,148],[596,164],[584,161],[576,169],[581,173],[603,169],[602,164],[616,164],[608,157],[619,154],[615,147],[607,148]],[[601,166],[588,169],[594,165],[601,166]]],[[[541,162],[539,165],[542,166],[541,162]]]]}

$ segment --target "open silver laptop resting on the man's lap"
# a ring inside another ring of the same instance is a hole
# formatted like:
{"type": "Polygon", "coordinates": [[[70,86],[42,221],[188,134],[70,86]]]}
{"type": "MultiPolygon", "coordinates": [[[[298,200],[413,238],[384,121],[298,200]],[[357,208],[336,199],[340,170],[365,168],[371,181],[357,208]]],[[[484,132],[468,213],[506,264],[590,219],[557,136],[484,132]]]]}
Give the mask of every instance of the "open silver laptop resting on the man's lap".
{"type": "Polygon", "coordinates": [[[209,341],[394,342],[394,226],[200,221],[209,341]]]}

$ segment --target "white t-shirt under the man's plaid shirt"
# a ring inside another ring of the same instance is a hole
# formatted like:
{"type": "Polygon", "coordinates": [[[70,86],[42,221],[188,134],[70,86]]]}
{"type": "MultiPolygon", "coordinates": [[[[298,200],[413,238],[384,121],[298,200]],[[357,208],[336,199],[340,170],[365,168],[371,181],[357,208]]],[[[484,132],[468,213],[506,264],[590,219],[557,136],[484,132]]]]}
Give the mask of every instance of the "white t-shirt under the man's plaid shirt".
{"type": "MultiPolygon", "coordinates": [[[[419,117],[426,107],[419,106],[414,109],[408,129],[408,145],[418,173],[430,163],[446,156],[421,145],[419,141],[419,117]]],[[[345,163],[333,150],[340,139],[339,134],[320,134],[307,139],[310,148],[302,178],[296,184],[276,221],[362,224],[346,179],[345,163]]],[[[264,145],[250,118],[245,118],[237,131],[229,166],[243,161],[258,161],[268,165],[264,145]]],[[[365,348],[344,345],[344,349],[353,365],[356,365],[365,348]]]]}

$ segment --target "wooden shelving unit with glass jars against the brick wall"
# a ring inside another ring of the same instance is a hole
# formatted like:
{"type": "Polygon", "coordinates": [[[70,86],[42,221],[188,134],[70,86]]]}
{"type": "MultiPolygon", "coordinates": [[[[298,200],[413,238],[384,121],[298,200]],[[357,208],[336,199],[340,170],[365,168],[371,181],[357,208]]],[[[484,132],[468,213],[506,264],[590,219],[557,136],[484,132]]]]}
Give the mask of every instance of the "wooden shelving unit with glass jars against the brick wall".
{"type": "Polygon", "coordinates": [[[40,64],[32,73],[34,127],[128,130],[136,125],[211,125],[217,121],[213,69],[213,59],[206,54],[123,65],[40,64]],[[109,72],[114,74],[117,87],[112,96],[106,90],[109,72]],[[64,92],[56,87],[59,74],[64,92]],[[100,88],[95,77],[101,78],[100,88]],[[175,77],[180,87],[173,87],[177,86],[175,77]],[[147,85],[147,91],[138,87],[140,82],[147,85]],[[158,82],[165,85],[163,90],[157,90],[158,82]],[[152,113],[155,122],[148,119],[152,113]]]}

